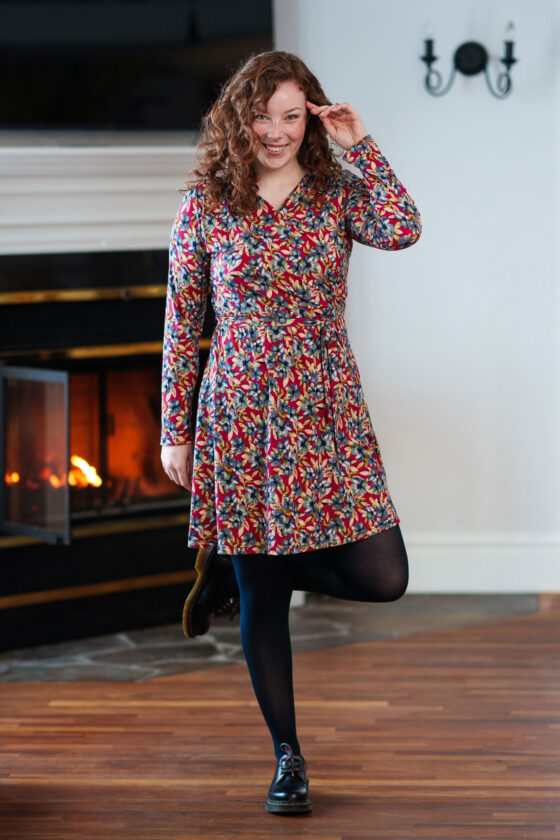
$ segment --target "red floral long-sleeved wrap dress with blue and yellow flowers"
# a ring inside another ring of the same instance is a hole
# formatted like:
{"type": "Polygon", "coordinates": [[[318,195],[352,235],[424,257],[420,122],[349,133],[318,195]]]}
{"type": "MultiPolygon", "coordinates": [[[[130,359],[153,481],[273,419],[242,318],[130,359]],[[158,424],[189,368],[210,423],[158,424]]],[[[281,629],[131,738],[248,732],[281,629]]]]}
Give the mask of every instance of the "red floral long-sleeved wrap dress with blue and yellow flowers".
{"type": "Polygon", "coordinates": [[[326,190],[307,173],[275,210],[185,193],[171,232],[161,443],[194,440],[187,544],[296,554],[396,525],[344,320],[353,242],[398,250],[414,202],[371,135],[326,190]],[[192,425],[208,296],[216,315],[192,425]]]}

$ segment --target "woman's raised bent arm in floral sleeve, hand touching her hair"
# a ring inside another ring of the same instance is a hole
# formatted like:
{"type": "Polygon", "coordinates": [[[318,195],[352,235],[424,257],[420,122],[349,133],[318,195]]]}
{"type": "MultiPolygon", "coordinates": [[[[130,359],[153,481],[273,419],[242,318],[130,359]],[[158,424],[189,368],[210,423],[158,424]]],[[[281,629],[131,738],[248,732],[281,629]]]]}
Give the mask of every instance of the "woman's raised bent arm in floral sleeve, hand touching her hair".
{"type": "Polygon", "coordinates": [[[345,149],[343,158],[362,172],[362,178],[349,171],[344,174],[344,215],[352,239],[385,251],[414,245],[422,233],[418,208],[356,109],[349,102],[316,105],[308,100],[306,104],[345,149]]]}

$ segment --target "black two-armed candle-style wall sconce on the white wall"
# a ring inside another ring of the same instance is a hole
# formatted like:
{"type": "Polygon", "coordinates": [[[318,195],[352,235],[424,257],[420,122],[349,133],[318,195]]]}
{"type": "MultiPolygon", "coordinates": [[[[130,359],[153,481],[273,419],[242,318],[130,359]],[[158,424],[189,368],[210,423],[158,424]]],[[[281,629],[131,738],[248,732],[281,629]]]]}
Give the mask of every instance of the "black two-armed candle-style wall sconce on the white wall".
{"type": "Polygon", "coordinates": [[[515,64],[518,60],[513,57],[514,32],[515,27],[513,23],[508,23],[504,42],[505,53],[504,57],[500,59],[506,69],[502,73],[498,74],[496,79],[496,90],[492,87],[490,77],[488,76],[488,52],[482,44],[479,44],[476,41],[467,41],[465,44],[461,44],[461,46],[457,48],[453,58],[453,70],[451,72],[451,76],[449,77],[449,81],[445,87],[442,88],[441,73],[438,73],[438,71],[434,70],[432,67],[434,61],[438,60],[438,56],[434,55],[434,42],[430,37],[430,33],[428,38],[424,41],[425,54],[420,56],[422,61],[424,61],[428,67],[426,78],[424,80],[428,93],[431,93],[432,96],[443,96],[447,93],[455,80],[455,73],[457,70],[465,76],[476,76],[477,73],[481,73],[484,70],[486,84],[488,85],[490,93],[497,99],[504,99],[511,91],[509,69],[512,64],[515,64]]]}

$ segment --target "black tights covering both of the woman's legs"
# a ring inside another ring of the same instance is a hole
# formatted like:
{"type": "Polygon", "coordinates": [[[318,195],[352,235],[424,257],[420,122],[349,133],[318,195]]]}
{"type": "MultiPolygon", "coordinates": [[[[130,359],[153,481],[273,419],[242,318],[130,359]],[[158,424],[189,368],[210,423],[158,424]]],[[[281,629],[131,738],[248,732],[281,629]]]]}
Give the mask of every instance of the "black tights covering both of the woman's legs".
{"type": "Polygon", "coordinates": [[[295,589],[349,601],[395,601],[408,585],[399,525],[346,545],[301,554],[234,554],[241,596],[241,640],[276,757],[286,741],[296,754],[289,607],[295,589]]]}

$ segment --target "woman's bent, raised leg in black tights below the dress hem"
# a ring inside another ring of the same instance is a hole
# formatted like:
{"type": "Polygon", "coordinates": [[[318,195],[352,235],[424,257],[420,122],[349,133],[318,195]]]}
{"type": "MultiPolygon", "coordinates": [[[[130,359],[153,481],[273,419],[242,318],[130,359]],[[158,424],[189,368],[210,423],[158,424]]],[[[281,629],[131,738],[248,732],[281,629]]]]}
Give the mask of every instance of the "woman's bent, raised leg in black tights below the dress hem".
{"type": "Polygon", "coordinates": [[[408,586],[400,526],[356,542],[291,555],[294,589],[349,601],[396,601],[408,586]]]}

